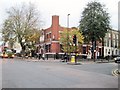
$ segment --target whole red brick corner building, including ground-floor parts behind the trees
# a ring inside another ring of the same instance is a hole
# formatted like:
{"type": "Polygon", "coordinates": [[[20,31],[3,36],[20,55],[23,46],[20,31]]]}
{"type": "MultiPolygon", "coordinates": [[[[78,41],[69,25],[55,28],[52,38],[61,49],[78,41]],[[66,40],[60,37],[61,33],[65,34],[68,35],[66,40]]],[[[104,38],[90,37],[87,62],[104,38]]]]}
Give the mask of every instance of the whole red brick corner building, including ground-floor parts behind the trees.
{"type": "MultiPolygon", "coordinates": [[[[52,25],[47,29],[42,30],[42,35],[40,37],[40,47],[44,51],[44,53],[61,53],[61,45],[59,42],[60,32],[63,31],[66,27],[62,27],[59,24],[59,16],[52,16],[52,25]]],[[[92,47],[90,44],[83,44],[81,46],[81,54],[89,55],[91,58],[91,50],[92,47]]],[[[99,52],[99,55],[102,55],[102,44],[97,42],[97,48],[95,51],[99,52]]]]}

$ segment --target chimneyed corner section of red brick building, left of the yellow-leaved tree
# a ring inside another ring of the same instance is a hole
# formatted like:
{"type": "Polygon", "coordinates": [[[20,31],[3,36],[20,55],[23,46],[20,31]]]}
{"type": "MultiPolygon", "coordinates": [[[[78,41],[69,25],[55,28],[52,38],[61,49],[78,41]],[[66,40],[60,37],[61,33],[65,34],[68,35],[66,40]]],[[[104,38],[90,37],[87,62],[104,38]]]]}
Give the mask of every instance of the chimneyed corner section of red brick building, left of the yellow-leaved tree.
{"type": "Polygon", "coordinates": [[[61,52],[61,45],[59,43],[60,31],[65,28],[59,25],[59,16],[52,16],[52,25],[50,28],[42,30],[40,37],[40,46],[45,53],[59,53],[61,52]]]}

